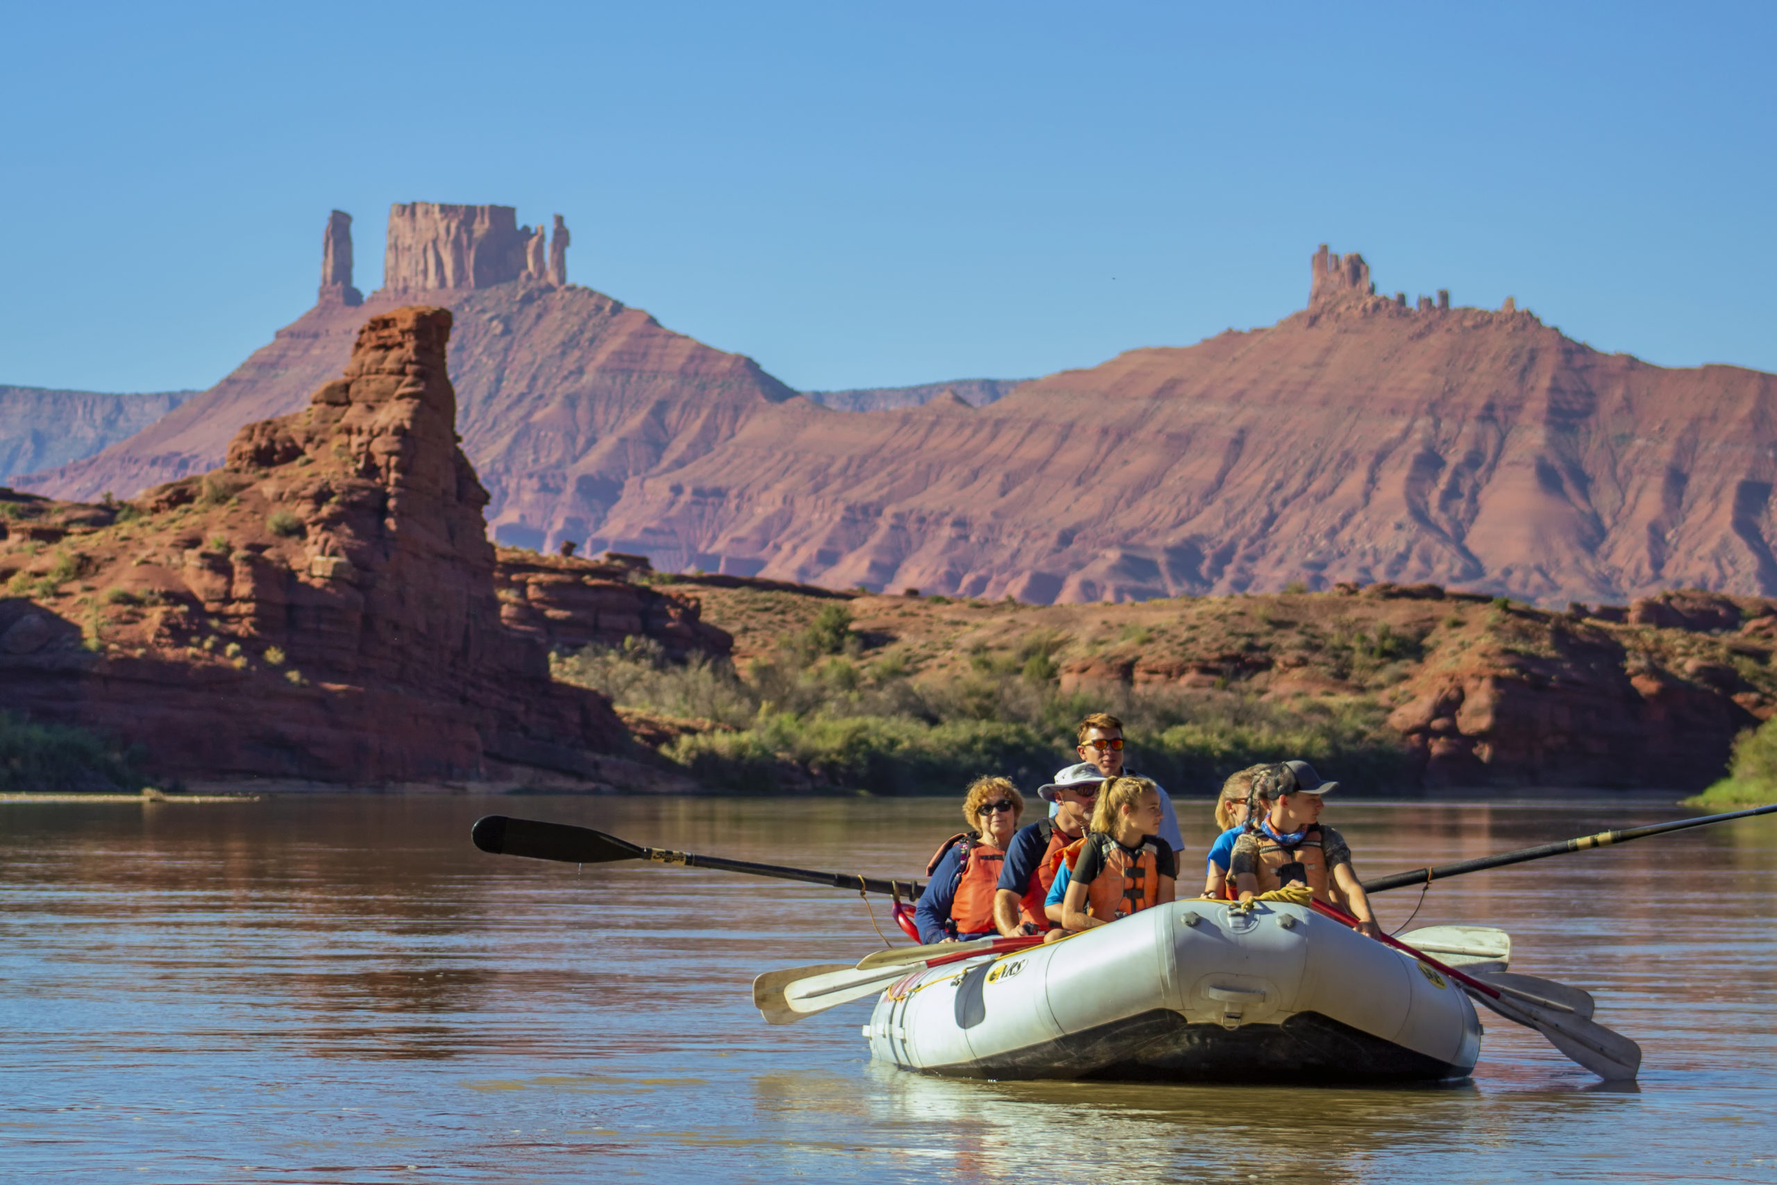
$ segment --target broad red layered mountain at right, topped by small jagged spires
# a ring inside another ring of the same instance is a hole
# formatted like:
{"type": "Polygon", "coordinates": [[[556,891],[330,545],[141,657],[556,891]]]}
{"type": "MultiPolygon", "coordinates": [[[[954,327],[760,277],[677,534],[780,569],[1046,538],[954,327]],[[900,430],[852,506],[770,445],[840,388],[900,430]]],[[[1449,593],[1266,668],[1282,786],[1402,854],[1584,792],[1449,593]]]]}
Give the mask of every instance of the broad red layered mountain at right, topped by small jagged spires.
{"type": "Polygon", "coordinates": [[[624,492],[661,567],[1036,602],[1438,581],[1544,604],[1777,593],[1777,377],[1663,370],[1523,311],[1377,297],[1132,350],[968,409],[764,409],[624,492]]]}

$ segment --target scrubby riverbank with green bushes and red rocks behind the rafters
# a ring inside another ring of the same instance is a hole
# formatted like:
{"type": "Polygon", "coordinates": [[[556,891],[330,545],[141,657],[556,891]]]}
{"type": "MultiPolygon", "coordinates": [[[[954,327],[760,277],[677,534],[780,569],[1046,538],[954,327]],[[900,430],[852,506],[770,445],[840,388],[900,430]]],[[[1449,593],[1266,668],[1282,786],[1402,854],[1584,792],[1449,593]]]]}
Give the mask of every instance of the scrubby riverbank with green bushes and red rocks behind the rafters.
{"type": "Polygon", "coordinates": [[[1674,787],[1720,776],[1777,711],[1777,602],[1676,593],[1551,613],[1438,586],[1029,606],[700,583],[734,661],[633,638],[554,661],[641,743],[734,792],[1024,785],[1077,760],[1089,711],[1130,766],[1214,792],[1301,757],[1365,792],[1674,787]]]}

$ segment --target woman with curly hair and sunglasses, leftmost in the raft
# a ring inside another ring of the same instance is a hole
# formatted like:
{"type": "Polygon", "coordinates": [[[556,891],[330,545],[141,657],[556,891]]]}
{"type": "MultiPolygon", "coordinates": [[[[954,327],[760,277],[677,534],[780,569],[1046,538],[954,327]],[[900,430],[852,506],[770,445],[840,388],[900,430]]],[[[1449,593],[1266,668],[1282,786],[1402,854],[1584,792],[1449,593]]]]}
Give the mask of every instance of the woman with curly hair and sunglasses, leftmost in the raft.
{"type": "Polygon", "coordinates": [[[1024,794],[1008,778],[976,778],[963,796],[972,830],[944,840],[926,865],[926,892],[913,908],[920,942],[960,942],[999,934],[993,892],[1006,863],[1006,846],[1018,831],[1024,794]]]}

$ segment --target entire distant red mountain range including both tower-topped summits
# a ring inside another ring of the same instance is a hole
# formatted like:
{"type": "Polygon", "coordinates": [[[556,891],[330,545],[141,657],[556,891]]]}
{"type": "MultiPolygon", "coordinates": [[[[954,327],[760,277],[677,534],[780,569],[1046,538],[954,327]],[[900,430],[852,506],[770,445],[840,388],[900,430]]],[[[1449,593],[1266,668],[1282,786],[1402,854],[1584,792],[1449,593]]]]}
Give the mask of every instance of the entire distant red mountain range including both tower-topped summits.
{"type": "MultiPolygon", "coordinates": [[[[1308,307],[970,407],[835,412],[752,359],[567,284],[503,206],[391,213],[386,286],[322,302],[211,391],[21,485],[92,499],[215,464],[336,373],[357,323],[457,313],[464,448],[505,542],[704,569],[1093,602],[1439,583],[1542,604],[1777,593],[1777,377],[1599,354],[1512,300],[1377,295],[1322,247],[1308,307]]],[[[546,251],[547,247],[547,251],[546,251]]]]}

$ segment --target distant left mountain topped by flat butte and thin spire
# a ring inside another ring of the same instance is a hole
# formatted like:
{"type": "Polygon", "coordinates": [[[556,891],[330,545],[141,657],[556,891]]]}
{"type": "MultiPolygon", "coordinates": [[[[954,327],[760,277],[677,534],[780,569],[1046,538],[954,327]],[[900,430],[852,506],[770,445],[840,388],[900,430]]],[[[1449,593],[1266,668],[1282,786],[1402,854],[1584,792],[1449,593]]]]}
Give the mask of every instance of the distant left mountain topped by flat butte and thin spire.
{"type": "Polygon", "coordinates": [[[796,394],[748,357],[565,284],[560,220],[544,261],[542,227],[517,226],[510,206],[400,204],[384,288],[352,304],[350,219],[341,219],[327,227],[322,300],[270,345],[147,430],[18,485],[94,501],[201,473],[243,425],[299,409],[338,375],[368,316],[416,297],[455,313],[458,428],[503,542],[585,540],[629,480],[682,465],[759,407],[796,394]]]}

